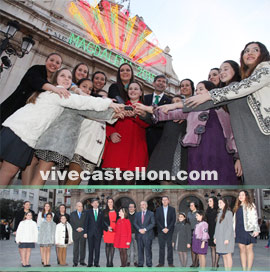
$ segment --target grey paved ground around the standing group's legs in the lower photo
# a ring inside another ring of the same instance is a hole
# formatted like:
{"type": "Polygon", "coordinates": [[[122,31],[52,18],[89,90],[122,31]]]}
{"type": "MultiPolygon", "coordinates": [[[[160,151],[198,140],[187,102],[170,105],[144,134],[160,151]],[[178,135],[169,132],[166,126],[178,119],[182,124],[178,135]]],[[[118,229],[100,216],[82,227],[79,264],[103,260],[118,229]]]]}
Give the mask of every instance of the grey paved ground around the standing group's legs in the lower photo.
{"type": "MultiPolygon", "coordinates": [[[[254,268],[256,267],[264,267],[269,268],[270,271],[270,249],[264,248],[266,245],[265,240],[258,240],[258,243],[254,246],[254,253],[255,253],[255,259],[254,259],[254,268]]],[[[86,256],[88,256],[86,254],[86,256]]],[[[87,261],[87,260],[86,260],[87,261]]],[[[67,250],[67,262],[69,266],[72,266],[72,246],[68,247],[67,250]]],[[[35,249],[32,250],[30,263],[33,267],[41,267],[40,263],[40,251],[39,247],[36,246],[35,249]]],[[[51,264],[52,266],[57,267],[56,262],[56,254],[55,249],[52,248],[52,256],[51,256],[51,264]]],[[[153,241],[153,266],[158,264],[158,241],[157,238],[153,241]]],[[[178,260],[177,252],[174,251],[174,264],[175,266],[179,267],[180,262],[178,260]]],[[[191,258],[190,255],[188,256],[188,265],[191,264],[191,258]]],[[[105,266],[106,265],[106,257],[105,257],[105,246],[102,242],[101,244],[101,257],[100,257],[100,265],[105,266]]],[[[167,264],[166,264],[167,265],[167,264]]],[[[222,260],[220,261],[220,266],[223,265],[222,260]]],[[[114,256],[114,266],[119,267],[120,266],[120,257],[118,250],[115,251],[114,256]]],[[[208,250],[207,254],[207,266],[211,266],[211,253],[210,249],[208,250]]],[[[233,266],[234,267],[240,267],[240,257],[239,257],[239,249],[238,246],[235,247],[235,252],[233,256],[233,266]]],[[[20,259],[19,259],[19,252],[17,249],[17,245],[14,242],[14,236],[11,237],[11,240],[1,240],[0,241],[0,267],[20,267],[20,259]]]]}

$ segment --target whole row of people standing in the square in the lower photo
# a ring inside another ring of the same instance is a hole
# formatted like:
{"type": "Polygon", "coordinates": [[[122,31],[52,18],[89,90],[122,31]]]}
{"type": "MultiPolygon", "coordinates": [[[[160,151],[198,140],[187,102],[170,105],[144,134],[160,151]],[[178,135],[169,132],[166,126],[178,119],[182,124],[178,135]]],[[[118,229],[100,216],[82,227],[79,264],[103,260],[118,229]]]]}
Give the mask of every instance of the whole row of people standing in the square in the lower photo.
{"type": "Polygon", "coordinates": [[[169,267],[174,267],[173,250],[179,254],[181,266],[187,266],[188,252],[191,252],[191,267],[206,267],[206,254],[211,248],[212,267],[219,266],[222,256],[226,269],[232,268],[232,254],[235,243],[240,249],[244,270],[251,269],[254,253],[253,244],[260,233],[256,206],[247,191],[240,191],[234,209],[231,211],[226,198],[208,199],[204,212],[197,209],[197,203],[190,202],[186,214],[170,206],[168,196],[162,197],[162,205],[155,212],[148,209],[146,201],[141,201],[140,211],[135,203],[119,211],[114,200],[107,198],[106,208],[100,209],[98,199],[91,200],[92,208],[83,210],[78,202],[70,215],[65,205],[60,205],[54,214],[46,203],[38,213],[30,209],[30,202],[15,217],[14,234],[19,245],[23,267],[29,267],[31,248],[40,245],[41,262],[50,266],[51,247],[56,246],[58,264],[65,266],[67,247],[73,243],[73,267],[78,265],[99,267],[100,247],[105,243],[106,266],[113,267],[115,248],[119,249],[121,267],[152,267],[152,241],[157,227],[159,259],[157,267],[165,266],[165,249],[169,267]],[[177,217],[177,218],[176,218],[177,217]],[[177,222],[176,222],[177,221],[177,222]],[[88,264],[85,263],[86,243],[88,243],[88,264]],[[133,259],[133,261],[132,261],[133,259]]]}

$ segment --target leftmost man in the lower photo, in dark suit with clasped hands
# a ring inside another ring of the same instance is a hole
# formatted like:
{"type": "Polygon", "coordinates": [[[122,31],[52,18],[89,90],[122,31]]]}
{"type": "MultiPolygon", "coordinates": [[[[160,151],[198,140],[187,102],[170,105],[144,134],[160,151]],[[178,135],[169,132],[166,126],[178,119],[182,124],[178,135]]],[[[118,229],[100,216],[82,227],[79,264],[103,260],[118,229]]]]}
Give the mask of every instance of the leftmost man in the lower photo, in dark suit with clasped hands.
{"type": "Polygon", "coordinates": [[[76,203],[76,211],[70,214],[70,225],[72,227],[73,237],[73,267],[78,266],[79,257],[80,265],[85,266],[85,244],[86,239],[83,237],[86,214],[83,211],[82,202],[76,203]]]}

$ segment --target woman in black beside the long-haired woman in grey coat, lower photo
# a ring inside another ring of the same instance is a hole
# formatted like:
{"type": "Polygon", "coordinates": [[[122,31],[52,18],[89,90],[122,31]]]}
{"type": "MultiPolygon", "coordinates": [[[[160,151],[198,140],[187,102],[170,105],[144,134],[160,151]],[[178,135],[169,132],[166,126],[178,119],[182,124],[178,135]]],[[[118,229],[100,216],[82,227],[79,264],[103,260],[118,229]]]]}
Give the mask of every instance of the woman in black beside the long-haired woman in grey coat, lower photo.
{"type": "Polygon", "coordinates": [[[206,222],[208,223],[208,245],[211,247],[212,267],[218,267],[219,255],[216,253],[216,245],[214,243],[214,234],[216,228],[216,220],[218,214],[218,200],[214,196],[208,199],[208,208],[205,212],[206,222]]]}

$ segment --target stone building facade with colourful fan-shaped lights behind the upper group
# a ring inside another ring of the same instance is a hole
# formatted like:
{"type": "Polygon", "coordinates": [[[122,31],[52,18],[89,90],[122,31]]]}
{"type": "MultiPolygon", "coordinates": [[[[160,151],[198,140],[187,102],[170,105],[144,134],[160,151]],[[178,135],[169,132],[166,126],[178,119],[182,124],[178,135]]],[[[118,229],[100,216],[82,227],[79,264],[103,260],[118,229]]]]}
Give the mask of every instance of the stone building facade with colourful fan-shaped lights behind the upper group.
{"type": "MultiPolygon", "coordinates": [[[[4,88],[0,102],[15,90],[29,67],[43,64],[51,52],[62,55],[65,67],[72,69],[85,62],[90,74],[104,71],[108,76],[105,90],[116,81],[116,71],[123,62],[132,65],[145,93],[153,91],[153,78],[158,74],[168,77],[168,94],[173,95],[179,89],[169,47],[160,48],[147,22],[139,15],[131,15],[116,1],[2,0],[0,12],[2,31],[10,20],[20,23],[20,31],[10,40],[15,48],[25,35],[31,35],[35,41],[23,58],[9,57],[12,67],[1,73],[4,88]]],[[[0,35],[3,39],[3,33],[0,35]]]]}

